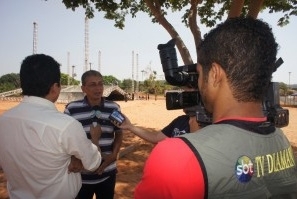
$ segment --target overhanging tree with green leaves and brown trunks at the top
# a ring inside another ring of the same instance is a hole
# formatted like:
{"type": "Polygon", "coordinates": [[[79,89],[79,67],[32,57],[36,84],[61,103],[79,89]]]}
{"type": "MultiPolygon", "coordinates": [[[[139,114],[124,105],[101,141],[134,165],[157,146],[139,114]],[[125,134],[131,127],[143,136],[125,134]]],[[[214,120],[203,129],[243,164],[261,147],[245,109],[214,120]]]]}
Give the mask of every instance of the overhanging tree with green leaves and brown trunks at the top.
{"type": "Polygon", "coordinates": [[[85,8],[86,16],[89,18],[94,17],[95,11],[103,12],[104,17],[114,20],[114,26],[120,29],[125,27],[127,15],[134,18],[139,12],[147,13],[152,22],[162,25],[170,36],[176,39],[176,46],[184,64],[192,64],[193,61],[181,36],[166,19],[169,11],[183,13],[181,21],[191,31],[196,47],[201,41],[197,17],[201,24],[213,27],[228,17],[257,18],[258,13],[266,9],[269,13],[282,13],[283,16],[278,24],[283,26],[289,23],[291,16],[297,15],[296,0],[63,0],[62,2],[66,8],[72,10],[78,7],[85,8]]]}

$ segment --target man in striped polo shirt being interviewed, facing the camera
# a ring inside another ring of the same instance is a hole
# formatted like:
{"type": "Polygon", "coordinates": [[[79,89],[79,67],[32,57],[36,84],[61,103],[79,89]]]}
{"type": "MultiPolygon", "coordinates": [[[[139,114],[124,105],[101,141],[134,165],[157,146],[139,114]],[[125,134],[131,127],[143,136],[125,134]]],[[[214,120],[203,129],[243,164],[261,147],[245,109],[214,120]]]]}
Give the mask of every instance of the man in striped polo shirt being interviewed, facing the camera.
{"type": "Polygon", "coordinates": [[[81,89],[85,97],[70,102],[64,113],[77,119],[85,130],[84,136],[93,141],[97,140],[103,163],[96,173],[82,172],[82,188],[78,193],[79,199],[92,199],[93,195],[100,199],[112,199],[116,183],[116,161],[122,144],[122,130],[112,124],[109,115],[120,106],[103,98],[103,77],[95,70],[86,71],[81,77],[81,89]],[[96,138],[90,131],[99,132],[96,138]]]}

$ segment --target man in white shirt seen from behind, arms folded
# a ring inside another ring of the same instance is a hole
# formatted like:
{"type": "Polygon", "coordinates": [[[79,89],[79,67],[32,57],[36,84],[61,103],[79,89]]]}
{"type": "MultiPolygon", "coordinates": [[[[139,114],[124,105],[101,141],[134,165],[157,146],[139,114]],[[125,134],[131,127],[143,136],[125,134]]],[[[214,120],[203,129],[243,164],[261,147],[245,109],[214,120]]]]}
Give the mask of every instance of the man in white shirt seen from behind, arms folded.
{"type": "Polygon", "coordinates": [[[24,98],[0,117],[0,167],[11,199],[73,199],[81,187],[80,173],[73,172],[100,165],[81,124],[54,104],[60,78],[60,64],[50,56],[31,55],[21,64],[24,98]]]}

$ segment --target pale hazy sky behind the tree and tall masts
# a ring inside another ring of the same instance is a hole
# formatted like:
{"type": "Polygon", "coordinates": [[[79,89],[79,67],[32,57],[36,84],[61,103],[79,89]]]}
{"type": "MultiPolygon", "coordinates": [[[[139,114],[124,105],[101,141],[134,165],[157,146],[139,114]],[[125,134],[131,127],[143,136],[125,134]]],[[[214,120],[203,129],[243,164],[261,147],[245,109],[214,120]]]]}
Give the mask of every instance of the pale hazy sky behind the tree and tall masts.
{"type": "MultiPolygon", "coordinates": [[[[197,60],[193,37],[181,23],[181,13],[173,13],[169,22],[176,28],[197,60]]],[[[280,45],[278,57],[284,63],[273,74],[273,81],[297,84],[297,18],[291,17],[285,27],[277,26],[279,14],[259,13],[258,18],[268,22],[280,45]]],[[[52,56],[61,64],[61,72],[80,80],[85,71],[85,18],[82,8],[72,11],[57,0],[0,0],[0,76],[19,73],[22,60],[33,53],[33,23],[37,23],[37,53],[52,56]],[[72,67],[74,66],[74,67],[72,67]]],[[[204,35],[210,29],[201,26],[204,35]]],[[[149,71],[156,71],[164,79],[158,44],[171,39],[166,30],[154,24],[146,14],[128,16],[125,28],[114,27],[114,22],[96,12],[89,20],[88,69],[100,70],[119,80],[145,80],[149,71]],[[134,59],[133,59],[134,58],[134,59]],[[148,73],[141,72],[147,71],[148,73]]],[[[265,49],[263,49],[265,50],[265,49]]],[[[182,59],[178,54],[178,65],[182,59]]]]}

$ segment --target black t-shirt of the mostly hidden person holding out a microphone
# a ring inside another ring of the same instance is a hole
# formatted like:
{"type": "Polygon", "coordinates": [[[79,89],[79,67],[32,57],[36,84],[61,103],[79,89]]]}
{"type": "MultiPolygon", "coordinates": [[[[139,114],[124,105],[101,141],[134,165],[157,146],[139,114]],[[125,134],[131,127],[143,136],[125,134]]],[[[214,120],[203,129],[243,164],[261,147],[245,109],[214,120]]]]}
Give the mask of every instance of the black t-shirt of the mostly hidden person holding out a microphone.
{"type": "Polygon", "coordinates": [[[170,124],[162,130],[167,137],[176,137],[190,132],[189,116],[181,115],[175,118],[170,124]]]}

